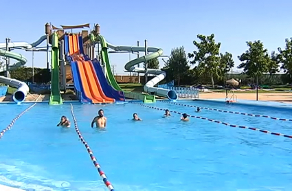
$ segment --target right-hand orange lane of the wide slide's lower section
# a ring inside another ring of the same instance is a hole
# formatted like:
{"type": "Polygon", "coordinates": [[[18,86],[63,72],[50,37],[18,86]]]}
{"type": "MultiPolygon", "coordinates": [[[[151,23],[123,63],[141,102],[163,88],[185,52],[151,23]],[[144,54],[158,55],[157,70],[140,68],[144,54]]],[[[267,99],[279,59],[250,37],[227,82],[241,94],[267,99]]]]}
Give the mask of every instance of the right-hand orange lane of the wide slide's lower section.
{"type": "Polygon", "coordinates": [[[89,83],[89,90],[91,92],[91,95],[96,100],[101,100],[102,103],[113,103],[115,102],[115,99],[108,98],[106,95],[104,95],[104,92],[102,91],[102,87],[100,85],[100,82],[96,76],[96,72],[93,70],[93,67],[91,67],[92,63],[89,61],[82,60],[83,68],[85,71],[85,75],[87,77],[87,82],[89,83]]]}

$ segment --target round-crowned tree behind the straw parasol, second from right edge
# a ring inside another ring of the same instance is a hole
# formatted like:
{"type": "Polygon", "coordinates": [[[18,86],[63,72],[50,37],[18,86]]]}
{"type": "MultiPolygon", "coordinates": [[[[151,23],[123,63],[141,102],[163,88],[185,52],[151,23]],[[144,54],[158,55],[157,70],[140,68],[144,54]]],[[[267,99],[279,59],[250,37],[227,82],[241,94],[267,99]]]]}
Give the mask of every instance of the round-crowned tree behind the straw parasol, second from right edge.
{"type": "Polygon", "coordinates": [[[244,73],[251,77],[258,77],[268,73],[271,58],[262,42],[254,41],[253,43],[249,41],[247,42],[247,47],[247,51],[238,56],[238,59],[242,62],[238,65],[238,69],[243,69],[244,73]]]}

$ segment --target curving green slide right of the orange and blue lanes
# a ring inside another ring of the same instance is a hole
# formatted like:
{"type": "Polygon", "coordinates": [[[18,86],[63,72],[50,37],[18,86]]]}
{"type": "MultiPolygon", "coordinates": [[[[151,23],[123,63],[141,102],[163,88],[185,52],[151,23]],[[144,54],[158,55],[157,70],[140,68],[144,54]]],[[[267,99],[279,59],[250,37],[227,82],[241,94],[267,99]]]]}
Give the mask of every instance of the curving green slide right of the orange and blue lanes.
{"type": "MultiPolygon", "coordinates": [[[[104,72],[106,73],[106,78],[109,81],[109,84],[117,91],[123,91],[122,88],[117,84],[117,81],[115,80],[115,76],[113,75],[113,72],[111,71],[111,64],[109,62],[109,52],[106,40],[103,36],[94,36],[93,34],[90,35],[91,41],[96,42],[100,41],[100,44],[102,45],[101,55],[102,55],[102,61],[104,63],[104,72]]],[[[136,93],[136,92],[130,92],[130,91],[124,91],[124,95],[126,98],[132,98],[135,100],[142,100],[144,103],[153,103],[156,102],[155,95],[148,95],[143,93],[136,93]]]]}

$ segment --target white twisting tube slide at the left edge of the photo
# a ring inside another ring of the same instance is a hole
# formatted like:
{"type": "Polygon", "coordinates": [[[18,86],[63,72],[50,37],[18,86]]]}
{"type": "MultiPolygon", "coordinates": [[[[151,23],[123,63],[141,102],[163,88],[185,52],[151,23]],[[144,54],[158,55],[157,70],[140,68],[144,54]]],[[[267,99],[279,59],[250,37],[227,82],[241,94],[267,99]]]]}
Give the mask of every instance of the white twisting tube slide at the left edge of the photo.
{"type": "MultiPolygon", "coordinates": [[[[41,36],[41,38],[38,39],[38,41],[34,43],[25,43],[25,42],[17,42],[17,43],[8,43],[9,48],[17,48],[17,47],[23,47],[25,49],[32,49],[33,47],[37,47],[43,41],[47,39],[47,36],[41,36]]],[[[18,60],[17,63],[14,63],[14,65],[9,66],[9,70],[17,69],[18,67],[21,67],[27,63],[27,59],[23,57],[21,54],[9,52],[6,50],[3,50],[6,48],[6,43],[0,43],[0,56],[5,56],[8,58],[13,58],[15,60],[18,60]]],[[[0,72],[6,71],[6,68],[1,68],[0,72]]],[[[30,88],[27,86],[25,82],[21,82],[16,79],[6,78],[4,76],[0,76],[0,82],[10,85],[11,87],[17,88],[17,90],[14,92],[12,99],[16,103],[21,103],[25,100],[25,97],[27,93],[30,91],[30,88]]]]}

